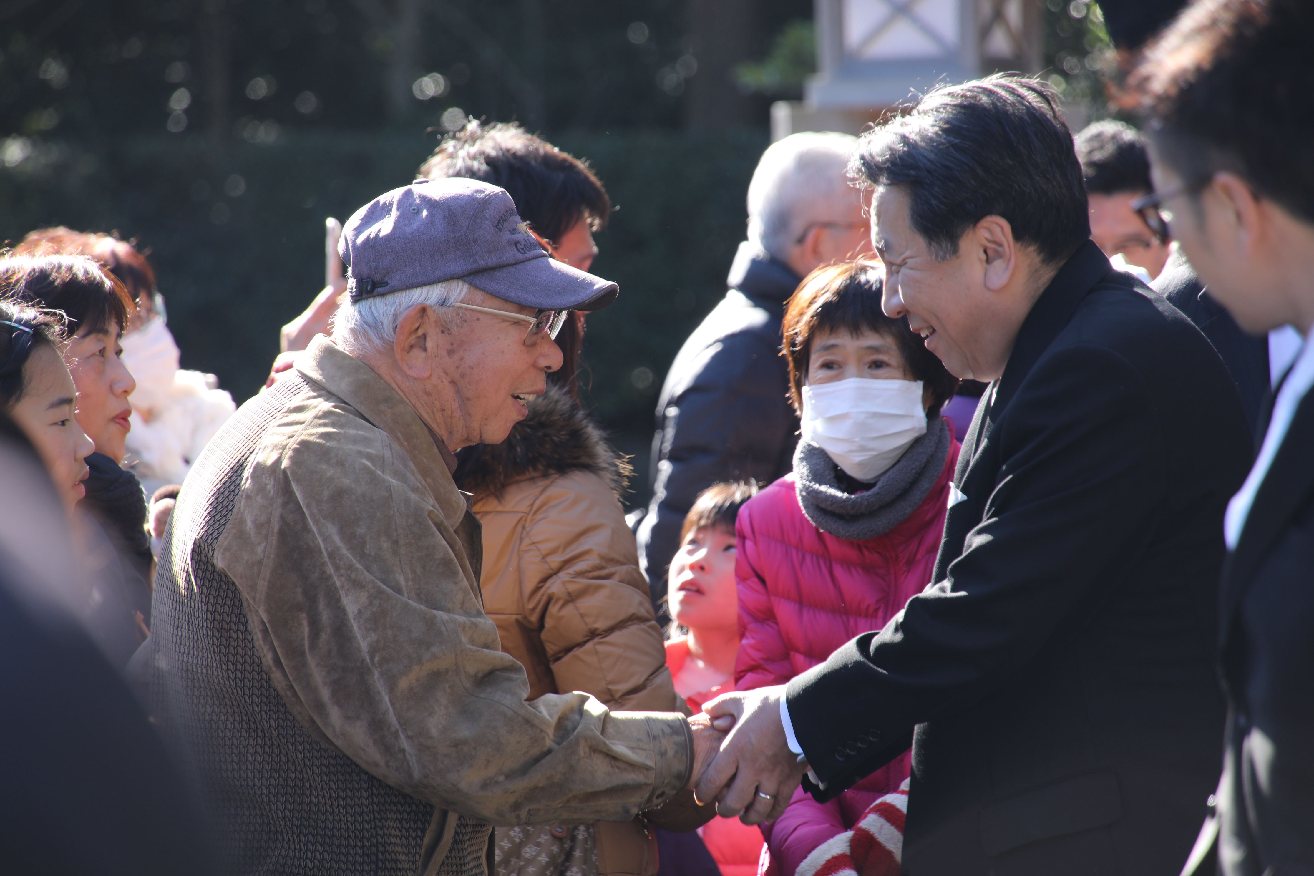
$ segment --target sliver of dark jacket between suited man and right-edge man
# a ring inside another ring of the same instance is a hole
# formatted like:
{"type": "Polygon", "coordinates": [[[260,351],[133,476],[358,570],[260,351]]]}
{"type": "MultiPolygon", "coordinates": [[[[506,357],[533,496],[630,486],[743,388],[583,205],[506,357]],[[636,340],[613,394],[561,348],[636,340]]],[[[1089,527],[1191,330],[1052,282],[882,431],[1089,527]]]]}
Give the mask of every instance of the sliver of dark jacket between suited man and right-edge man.
{"type": "Polygon", "coordinates": [[[1200,284],[1194,268],[1175,255],[1155,277],[1154,289],[1196,323],[1223,360],[1240,393],[1251,432],[1259,432],[1260,416],[1269,397],[1268,338],[1247,335],[1227,309],[1200,284]]]}

